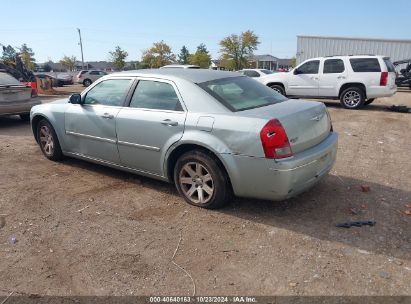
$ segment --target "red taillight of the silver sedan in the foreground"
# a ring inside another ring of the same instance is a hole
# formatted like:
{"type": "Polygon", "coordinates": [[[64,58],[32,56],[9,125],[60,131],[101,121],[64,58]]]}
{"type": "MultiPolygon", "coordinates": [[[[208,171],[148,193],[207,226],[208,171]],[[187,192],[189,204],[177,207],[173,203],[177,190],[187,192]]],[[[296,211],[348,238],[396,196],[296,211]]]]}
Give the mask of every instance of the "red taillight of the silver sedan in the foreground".
{"type": "Polygon", "coordinates": [[[293,155],[287,133],[278,119],[271,119],[260,132],[266,158],[285,158],[293,155]]]}

